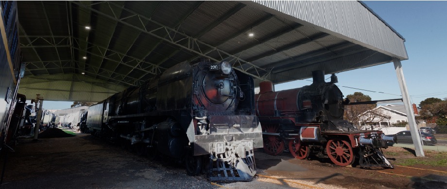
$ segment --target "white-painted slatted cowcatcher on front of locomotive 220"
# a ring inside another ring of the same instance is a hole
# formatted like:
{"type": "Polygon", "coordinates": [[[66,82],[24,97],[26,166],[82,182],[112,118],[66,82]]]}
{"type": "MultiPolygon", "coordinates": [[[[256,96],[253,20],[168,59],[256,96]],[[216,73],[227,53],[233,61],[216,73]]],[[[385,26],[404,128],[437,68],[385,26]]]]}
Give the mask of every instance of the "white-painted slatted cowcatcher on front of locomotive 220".
{"type": "MultiPolygon", "coordinates": [[[[219,142],[221,143],[221,142],[219,142]]],[[[211,146],[208,178],[210,181],[251,181],[256,174],[253,142],[225,142],[211,146]],[[216,150],[214,150],[216,149],[216,150]],[[219,152],[224,149],[224,152],[219,152]]]]}

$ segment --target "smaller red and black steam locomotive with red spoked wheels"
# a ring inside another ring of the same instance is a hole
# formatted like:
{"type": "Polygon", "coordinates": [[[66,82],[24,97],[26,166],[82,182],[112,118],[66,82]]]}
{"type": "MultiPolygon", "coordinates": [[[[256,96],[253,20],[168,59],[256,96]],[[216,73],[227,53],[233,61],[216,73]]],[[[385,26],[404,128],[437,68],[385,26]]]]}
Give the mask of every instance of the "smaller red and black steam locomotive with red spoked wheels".
{"type": "Polygon", "coordinates": [[[387,148],[382,131],[359,130],[343,120],[343,94],[331,82],[325,82],[324,71],[313,71],[313,83],[302,88],[275,92],[271,82],[259,84],[256,94],[256,114],[262,126],[264,149],[279,155],[286,148],[293,157],[305,159],[310,153],[329,157],[336,165],[346,166],[359,160],[361,167],[389,167],[393,165],[379,151],[387,148]]]}

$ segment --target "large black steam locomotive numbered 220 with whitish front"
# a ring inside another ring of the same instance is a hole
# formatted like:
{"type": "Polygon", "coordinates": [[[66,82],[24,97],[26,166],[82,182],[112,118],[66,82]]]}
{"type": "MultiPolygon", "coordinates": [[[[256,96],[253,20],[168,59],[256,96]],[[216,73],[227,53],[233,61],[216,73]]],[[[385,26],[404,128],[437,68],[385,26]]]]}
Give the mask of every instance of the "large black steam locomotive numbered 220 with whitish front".
{"type": "Polygon", "coordinates": [[[184,160],[210,180],[250,180],[262,147],[254,82],[228,62],[183,62],[158,78],[90,106],[92,134],[122,146],[184,160]]]}

